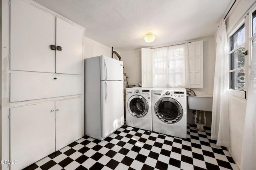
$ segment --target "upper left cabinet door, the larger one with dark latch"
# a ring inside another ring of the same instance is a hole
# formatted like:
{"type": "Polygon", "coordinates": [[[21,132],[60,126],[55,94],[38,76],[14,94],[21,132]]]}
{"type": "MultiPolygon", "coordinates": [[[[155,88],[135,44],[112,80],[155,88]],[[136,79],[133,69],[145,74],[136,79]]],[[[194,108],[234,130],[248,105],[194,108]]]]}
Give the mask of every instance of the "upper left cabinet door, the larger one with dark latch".
{"type": "Polygon", "coordinates": [[[10,70],[55,72],[55,17],[22,0],[10,16],[10,70]]]}

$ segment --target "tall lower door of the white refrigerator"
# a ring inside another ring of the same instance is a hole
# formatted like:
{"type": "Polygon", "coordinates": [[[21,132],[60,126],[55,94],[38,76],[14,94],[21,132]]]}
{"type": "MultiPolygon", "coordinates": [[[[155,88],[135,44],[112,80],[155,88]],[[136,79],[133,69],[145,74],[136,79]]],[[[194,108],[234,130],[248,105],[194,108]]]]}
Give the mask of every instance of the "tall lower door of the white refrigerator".
{"type": "Polygon", "coordinates": [[[124,124],[124,88],[122,81],[101,81],[102,138],[124,124]]]}

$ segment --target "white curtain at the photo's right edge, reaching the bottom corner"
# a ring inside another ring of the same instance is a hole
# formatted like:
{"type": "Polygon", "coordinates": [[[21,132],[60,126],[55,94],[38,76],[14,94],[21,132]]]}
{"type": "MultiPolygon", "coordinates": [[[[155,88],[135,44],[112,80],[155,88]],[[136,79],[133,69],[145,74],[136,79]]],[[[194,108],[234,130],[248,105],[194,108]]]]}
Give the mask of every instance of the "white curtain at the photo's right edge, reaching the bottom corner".
{"type": "Polygon", "coordinates": [[[256,42],[252,44],[252,61],[247,92],[241,170],[256,168],[256,42]]]}

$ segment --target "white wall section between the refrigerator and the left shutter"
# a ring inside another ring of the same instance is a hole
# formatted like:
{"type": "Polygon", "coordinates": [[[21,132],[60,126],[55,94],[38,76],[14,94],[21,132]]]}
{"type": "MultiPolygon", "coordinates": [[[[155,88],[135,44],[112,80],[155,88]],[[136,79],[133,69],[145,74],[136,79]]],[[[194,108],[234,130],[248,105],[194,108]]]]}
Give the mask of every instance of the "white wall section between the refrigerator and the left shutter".
{"type": "Polygon", "coordinates": [[[119,54],[124,62],[124,73],[129,78],[128,84],[139,86],[141,82],[141,49],[120,52],[119,54]]]}

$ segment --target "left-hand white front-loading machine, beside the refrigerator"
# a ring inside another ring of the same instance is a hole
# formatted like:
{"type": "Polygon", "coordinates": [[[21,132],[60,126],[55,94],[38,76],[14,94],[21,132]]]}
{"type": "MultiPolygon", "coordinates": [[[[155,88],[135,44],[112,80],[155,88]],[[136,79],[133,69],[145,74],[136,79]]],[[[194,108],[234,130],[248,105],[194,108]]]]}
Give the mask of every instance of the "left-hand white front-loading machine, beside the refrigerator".
{"type": "Polygon", "coordinates": [[[126,125],[152,131],[152,89],[126,88],[126,125]]]}

